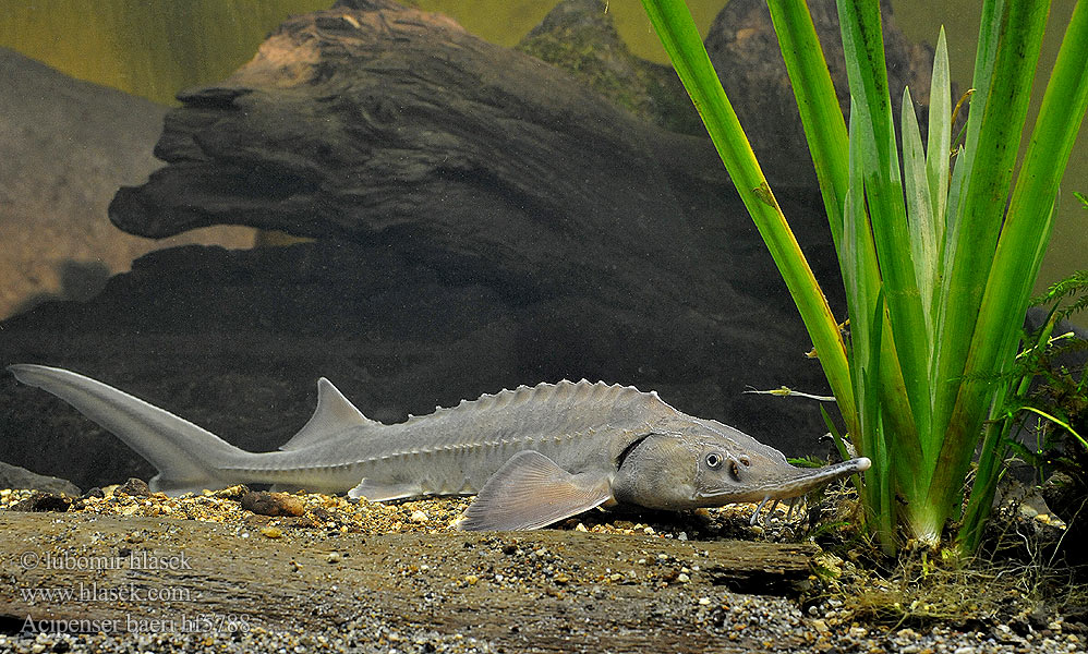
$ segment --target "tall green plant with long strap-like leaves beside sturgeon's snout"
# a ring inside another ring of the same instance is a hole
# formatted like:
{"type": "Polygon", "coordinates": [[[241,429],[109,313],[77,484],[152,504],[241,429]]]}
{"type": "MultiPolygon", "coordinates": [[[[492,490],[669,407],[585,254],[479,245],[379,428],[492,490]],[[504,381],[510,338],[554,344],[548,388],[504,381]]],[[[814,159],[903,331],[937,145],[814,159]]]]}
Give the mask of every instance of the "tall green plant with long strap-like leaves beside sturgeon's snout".
{"type": "MultiPolygon", "coordinates": [[[[1050,238],[1057,183],[1088,106],[1088,7],[1073,12],[1017,162],[1049,2],[984,0],[974,95],[953,149],[944,33],[922,146],[904,90],[900,148],[880,3],[839,0],[850,121],[839,110],[805,0],[769,0],[846,287],[844,335],[752,154],[682,0],[643,5],[789,289],[853,446],[867,529],[970,553],[1000,472],[983,424],[1004,404],[1028,295],[1050,238]],[[1014,170],[1018,171],[1014,175],[1014,170]],[[984,435],[983,435],[984,434],[984,435]],[[966,488],[981,445],[982,465],[966,488]]],[[[845,447],[845,445],[844,445],[845,447]]]]}

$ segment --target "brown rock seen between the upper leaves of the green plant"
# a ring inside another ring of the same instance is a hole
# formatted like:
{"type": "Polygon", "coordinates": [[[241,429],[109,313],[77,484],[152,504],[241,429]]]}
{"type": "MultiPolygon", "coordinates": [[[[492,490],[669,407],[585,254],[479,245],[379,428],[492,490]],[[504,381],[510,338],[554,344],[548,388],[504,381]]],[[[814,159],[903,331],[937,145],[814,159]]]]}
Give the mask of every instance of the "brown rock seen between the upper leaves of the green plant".
{"type": "MultiPolygon", "coordinates": [[[[926,125],[933,50],[907,41],[893,22],[891,2],[882,0],[880,4],[895,124],[899,124],[903,88],[909,86],[918,122],[926,125]]],[[[839,105],[849,116],[849,84],[835,0],[810,0],[808,7],[839,105]]],[[[772,187],[776,182],[814,185],[812,158],[766,2],[733,0],[726,4],[706,35],[706,50],[772,187]]]]}

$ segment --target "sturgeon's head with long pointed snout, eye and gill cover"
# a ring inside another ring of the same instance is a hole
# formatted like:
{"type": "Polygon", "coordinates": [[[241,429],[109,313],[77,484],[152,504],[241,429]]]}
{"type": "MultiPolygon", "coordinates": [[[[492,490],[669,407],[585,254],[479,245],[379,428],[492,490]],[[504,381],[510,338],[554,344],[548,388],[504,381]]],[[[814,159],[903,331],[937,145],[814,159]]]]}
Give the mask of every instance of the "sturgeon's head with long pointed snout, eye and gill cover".
{"type": "Polygon", "coordinates": [[[715,421],[654,433],[625,452],[616,499],[657,509],[788,499],[867,470],[867,458],[798,468],[773,447],[715,421]]]}

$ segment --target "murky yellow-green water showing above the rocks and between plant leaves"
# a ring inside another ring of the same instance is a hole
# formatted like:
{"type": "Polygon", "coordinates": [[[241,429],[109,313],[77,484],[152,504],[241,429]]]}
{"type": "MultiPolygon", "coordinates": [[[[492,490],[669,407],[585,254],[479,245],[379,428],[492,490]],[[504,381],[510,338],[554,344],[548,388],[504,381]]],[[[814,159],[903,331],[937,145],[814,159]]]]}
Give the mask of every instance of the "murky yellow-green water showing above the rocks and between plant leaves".
{"type": "MultiPolygon", "coordinates": [[[[292,13],[327,8],[331,0],[4,0],[0,46],[16,49],[75,77],[106,84],[159,102],[181,88],[216,82],[249,60],[265,35],[292,13]]],[[[499,45],[516,44],[555,4],[554,0],[420,0],[424,9],[456,17],[470,32],[499,45]]],[[[980,0],[896,0],[897,21],[911,39],[934,41],[945,25],[953,76],[968,86],[980,0]]],[[[1062,26],[1074,0],[1051,11],[1041,70],[1050,70],[1062,26]]],[[[710,25],[725,0],[691,0],[698,24],[710,25]]],[[[608,11],[631,49],[657,61],[664,53],[638,0],[612,0],[608,11]]],[[[1037,96],[1041,96],[1041,85],[1037,96]]],[[[1040,288],[1075,268],[1085,254],[1088,214],[1073,191],[1088,192],[1088,137],[1074,149],[1064,196],[1040,288]]],[[[1081,323],[1086,318],[1081,316],[1081,323]]],[[[1088,323],[1086,323],[1088,324],[1088,323]]]]}

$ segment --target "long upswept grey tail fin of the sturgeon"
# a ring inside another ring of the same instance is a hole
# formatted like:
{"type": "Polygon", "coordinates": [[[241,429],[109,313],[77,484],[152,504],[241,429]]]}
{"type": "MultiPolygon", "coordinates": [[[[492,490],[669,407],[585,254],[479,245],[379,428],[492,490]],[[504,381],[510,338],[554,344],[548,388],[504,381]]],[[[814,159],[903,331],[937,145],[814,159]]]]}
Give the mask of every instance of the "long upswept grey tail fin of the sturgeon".
{"type": "Polygon", "coordinates": [[[23,384],[72,404],[147,459],[159,470],[153,491],[180,494],[230,485],[218,468],[249,456],[188,420],[89,377],[34,364],[8,370],[23,384]]]}

